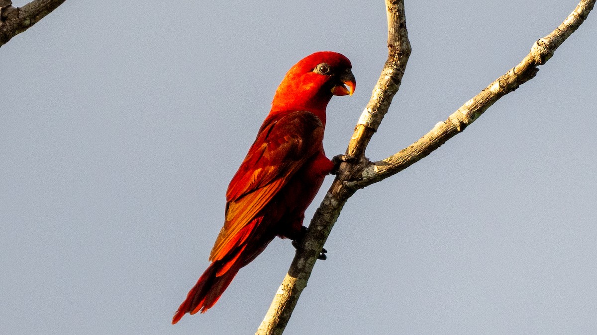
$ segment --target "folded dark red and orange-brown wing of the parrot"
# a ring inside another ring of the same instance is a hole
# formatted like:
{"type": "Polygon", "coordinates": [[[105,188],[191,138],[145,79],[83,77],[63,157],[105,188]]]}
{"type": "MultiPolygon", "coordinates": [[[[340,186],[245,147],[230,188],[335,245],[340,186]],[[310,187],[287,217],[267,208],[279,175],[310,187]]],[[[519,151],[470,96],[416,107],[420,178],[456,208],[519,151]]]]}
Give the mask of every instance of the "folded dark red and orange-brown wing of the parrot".
{"type": "Polygon", "coordinates": [[[241,245],[261,220],[259,212],[307,160],[322,150],[324,126],[309,111],[273,114],[263,122],[226,192],[224,227],[211,250],[220,260],[241,245]]]}

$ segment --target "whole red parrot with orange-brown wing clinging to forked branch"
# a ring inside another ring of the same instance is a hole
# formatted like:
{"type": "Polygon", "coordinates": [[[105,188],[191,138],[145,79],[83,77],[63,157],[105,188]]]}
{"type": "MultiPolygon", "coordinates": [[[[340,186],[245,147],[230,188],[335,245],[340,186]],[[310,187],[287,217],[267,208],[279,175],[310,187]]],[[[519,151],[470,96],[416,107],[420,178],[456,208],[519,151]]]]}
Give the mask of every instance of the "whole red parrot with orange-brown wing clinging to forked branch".
{"type": "Polygon", "coordinates": [[[348,58],[320,51],[298,61],[282,80],[272,109],[226,191],[224,227],[199,277],[172,319],[214,306],[243,266],[276,235],[303,237],[304,211],[334,169],[325,157],[325,107],[354,92],[348,58]],[[346,88],[347,85],[348,88],[346,88]]]}

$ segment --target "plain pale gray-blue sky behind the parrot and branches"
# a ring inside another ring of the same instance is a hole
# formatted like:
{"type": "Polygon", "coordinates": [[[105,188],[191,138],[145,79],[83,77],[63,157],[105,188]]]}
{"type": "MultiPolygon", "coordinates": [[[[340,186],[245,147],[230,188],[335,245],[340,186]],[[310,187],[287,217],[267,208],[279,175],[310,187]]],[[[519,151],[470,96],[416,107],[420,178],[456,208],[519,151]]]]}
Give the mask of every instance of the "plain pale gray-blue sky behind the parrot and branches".
{"type": "MultiPolygon", "coordinates": [[[[343,153],[386,16],[381,0],[209,3],[66,1],[0,49],[0,333],[257,329],[290,241],[170,321],[284,73],[314,51],[350,58],[356,93],[328,106],[324,143],[343,153]]],[[[576,4],[407,1],[413,53],[367,156],[445,120],[576,4]]],[[[463,134],[358,191],[285,334],[597,333],[596,31],[592,13],[463,134]]]]}

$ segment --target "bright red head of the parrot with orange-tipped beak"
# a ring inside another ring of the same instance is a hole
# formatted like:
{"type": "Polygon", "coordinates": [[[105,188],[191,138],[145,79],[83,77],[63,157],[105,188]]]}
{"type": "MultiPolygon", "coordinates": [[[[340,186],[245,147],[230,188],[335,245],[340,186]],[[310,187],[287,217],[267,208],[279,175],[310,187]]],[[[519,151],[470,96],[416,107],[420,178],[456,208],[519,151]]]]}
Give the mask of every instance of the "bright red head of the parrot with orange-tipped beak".
{"type": "MultiPolygon", "coordinates": [[[[333,51],[310,54],[294,64],[278,86],[272,112],[307,110],[324,113],[333,95],[352,95],[356,80],[348,58],[333,51]],[[346,85],[346,86],[345,86],[346,85]]],[[[321,118],[321,116],[320,116],[321,118]]]]}

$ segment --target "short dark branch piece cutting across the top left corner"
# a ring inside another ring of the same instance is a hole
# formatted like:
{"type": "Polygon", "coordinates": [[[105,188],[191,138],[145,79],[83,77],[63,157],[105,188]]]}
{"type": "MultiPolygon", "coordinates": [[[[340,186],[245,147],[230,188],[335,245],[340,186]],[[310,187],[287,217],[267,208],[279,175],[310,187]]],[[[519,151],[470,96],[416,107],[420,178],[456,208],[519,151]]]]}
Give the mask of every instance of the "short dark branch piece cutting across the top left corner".
{"type": "Polygon", "coordinates": [[[11,0],[0,0],[0,47],[51,13],[65,0],[35,0],[13,7],[11,0]]]}

